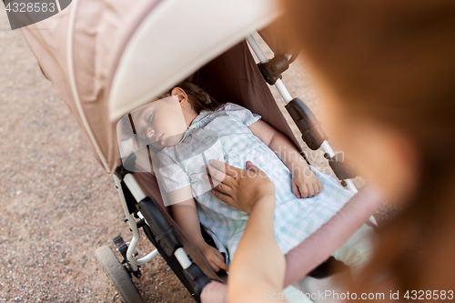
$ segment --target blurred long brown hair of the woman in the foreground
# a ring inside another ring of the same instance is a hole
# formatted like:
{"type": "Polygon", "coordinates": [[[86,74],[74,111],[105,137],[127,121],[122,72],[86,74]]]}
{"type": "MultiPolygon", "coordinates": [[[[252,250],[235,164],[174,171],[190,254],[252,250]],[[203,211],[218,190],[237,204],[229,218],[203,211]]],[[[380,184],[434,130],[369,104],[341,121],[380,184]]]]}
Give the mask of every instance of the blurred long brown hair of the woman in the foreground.
{"type": "Polygon", "coordinates": [[[291,39],[339,101],[410,136],[422,159],[359,288],[455,290],[455,1],[284,3],[291,39]]]}

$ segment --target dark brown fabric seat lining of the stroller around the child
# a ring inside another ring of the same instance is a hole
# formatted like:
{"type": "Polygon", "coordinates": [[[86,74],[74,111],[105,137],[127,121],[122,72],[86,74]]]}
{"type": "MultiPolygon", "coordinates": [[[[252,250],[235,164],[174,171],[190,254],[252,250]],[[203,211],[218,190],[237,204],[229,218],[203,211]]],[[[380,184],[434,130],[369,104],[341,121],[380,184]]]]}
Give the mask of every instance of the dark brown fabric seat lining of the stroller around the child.
{"type": "MultiPolygon", "coordinates": [[[[245,41],[233,46],[222,56],[218,56],[212,60],[206,66],[199,69],[193,76],[188,77],[188,80],[206,90],[208,94],[214,96],[221,103],[236,103],[258,113],[268,124],[287,134],[296,146],[298,146],[298,141],[293,136],[285,117],[276,115],[280,111],[278,105],[275,98],[271,95],[267,84],[264,82],[263,77],[260,75],[245,41]]],[[[130,121],[128,116],[125,116],[124,119],[127,122],[130,121]]],[[[140,145],[140,143],[138,144],[140,145]]],[[[134,163],[128,163],[129,160],[127,158],[123,160],[124,167],[136,171],[134,176],[143,191],[147,193],[147,197],[153,197],[157,201],[157,204],[165,211],[168,219],[172,220],[172,211],[170,207],[165,207],[164,205],[157,185],[157,178],[153,173],[151,159],[147,154],[147,148],[145,146],[136,147],[136,154],[138,156],[135,157],[134,163]]],[[[207,261],[184,235],[183,231],[173,220],[172,222],[178,236],[182,236],[182,242],[184,243],[184,249],[187,254],[207,274],[207,277],[222,281],[222,278],[218,277],[208,266],[207,261]]]]}

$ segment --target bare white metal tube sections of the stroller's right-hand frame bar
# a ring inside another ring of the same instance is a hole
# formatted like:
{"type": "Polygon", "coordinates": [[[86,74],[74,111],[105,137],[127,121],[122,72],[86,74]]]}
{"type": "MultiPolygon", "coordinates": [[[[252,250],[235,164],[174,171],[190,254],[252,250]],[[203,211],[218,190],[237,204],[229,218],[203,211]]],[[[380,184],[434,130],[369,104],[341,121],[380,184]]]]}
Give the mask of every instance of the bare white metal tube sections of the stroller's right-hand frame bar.
{"type": "MultiPolygon", "coordinates": [[[[248,35],[247,36],[247,41],[248,41],[248,45],[251,46],[251,49],[253,49],[253,51],[255,52],[256,56],[258,56],[258,59],[259,59],[260,63],[268,63],[267,56],[264,54],[264,52],[262,51],[262,49],[258,45],[258,42],[254,38],[254,36],[253,35],[248,35]]],[[[281,95],[283,97],[283,99],[285,100],[285,102],[287,104],[293,99],[292,96],[289,94],[288,89],[286,88],[286,86],[281,81],[281,79],[277,80],[277,82],[275,83],[275,87],[277,87],[279,95],[281,95]]],[[[329,145],[329,142],[327,142],[327,140],[322,142],[320,147],[322,147],[322,149],[324,150],[324,153],[329,154],[329,157],[334,157],[335,156],[335,152],[333,151],[332,147],[329,145]]],[[[354,185],[354,183],[352,182],[351,179],[345,179],[345,180],[342,180],[342,181],[346,182],[346,187],[350,191],[353,191],[355,193],[359,192],[359,190],[354,185]]],[[[378,226],[378,223],[376,222],[376,219],[373,216],[369,217],[369,221],[371,223],[373,223],[374,225],[378,226]]]]}

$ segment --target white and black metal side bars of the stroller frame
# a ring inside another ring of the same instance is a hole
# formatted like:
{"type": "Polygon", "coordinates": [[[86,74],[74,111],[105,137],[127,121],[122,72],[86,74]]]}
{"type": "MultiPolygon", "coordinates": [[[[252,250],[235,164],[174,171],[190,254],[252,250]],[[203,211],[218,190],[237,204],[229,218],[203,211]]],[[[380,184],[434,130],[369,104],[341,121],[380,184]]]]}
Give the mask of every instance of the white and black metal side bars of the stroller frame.
{"type": "MultiPolygon", "coordinates": [[[[269,60],[262,52],[262,49],[258,45],[254,36],[248,35],[247,41],[248,45],[250,45],[251,49],[258,56],[260,61],[258,64],[259,68],[261,68],[260,65],[267,65],[269,60]]],[[[261,69],[261,72],[263,72],[263,69],[261,69]]],[[[267,75],[264,75],[263,73],[263,76],[267,80],[267,75]]],[[[316,150],[321,147],[324,150],[324,156],[329,160],[330,167],[332,167],[337,177],[341,180],[341,184],[351,191],[358,192],[357,188],[350,179],[355,176],[349,172],[349,168],[345,167],[343,163],[336,160],[334,150],[329,145],[327,137],[319,128],[319,121],[313,116],[311,111],[303,104],[302,101],[294,99],[290,96],[288,89],[283,84],[279,76],[280,73],[278,76],[275,75],[275,82],[273,84],[269,81],[268,83],[275,85],[279,94],[286,101],[288,112],[298,125],[300,132],[303,134],[302,137],[304,141],[311,149],[316,150]],[[308,136],[305,136],[308,132],[312,135],[310,136],[310,140],[313,140],[313,142],[308,142],[308,136]],[[316,146],[314,144],[314,140],[318,142],[316,146]]],[[[176,235],[173,234],[172,226],[167,222],[166,217],[162,214],[162,209],[157,207],[157,201],[144,194],[141,187],[137,184],[135,177],[122,167],[122,165],[117,167],[116,174],[113,178],[126,215],[126,221],[128,222],[130,230],[133,234],[129,245],[127,246],[126,252],[124,251],[122,253],[125,258],[123,264],[126,264],[126,270],[128,273],[133,274],[136,278],[139,278],[139,267],[145,265],[153,258],[156,258],[157,255],[161,254],[163,258],[167,260],[167,264],[177,274],[177,277],[186,286],[193,298],[195,298],[197,302],[200,302],[202,289],[207,285],[207,283],[210,282],[210,279],[207,278],[202,270],[200,270],[190,258],[188,258],[182,244],[178,241],[176,235]],[[138,221],[136,221],[136,219],[138,219],[138,221]],[[154,224],[161,225],[160,227],[155,227],[155,229],[157,229],[155,232],[151,230],[154,228],[154,224]],[[145,256],[137,249],[140,227],[144,228],[149,240],[155,247],[157,247],[145,256]],[[157,235],[157,231],[161,232],[161,234],[157,235]],[[158,243],[160,241],[165,243],[165,248],[161,247],[161,243],[158,243]],[[172,248],[169,250],[166,249],[166,247],[172,248]],[[136,258],[136,251],[143,257],[136,258]],[[172,261],[169,258],[175,258],[175,260],[172,261]],[[176,260],[177,262],[175,262],[176,260]]],[[[372,224],[377,225],[374,217],[371,216],[369,221],[372,224]]],[[[117,290],[121,292],[120,289],[117,288],[117,290]]],[[[127,298],[124,299],[127,301],[127,298]]]]}

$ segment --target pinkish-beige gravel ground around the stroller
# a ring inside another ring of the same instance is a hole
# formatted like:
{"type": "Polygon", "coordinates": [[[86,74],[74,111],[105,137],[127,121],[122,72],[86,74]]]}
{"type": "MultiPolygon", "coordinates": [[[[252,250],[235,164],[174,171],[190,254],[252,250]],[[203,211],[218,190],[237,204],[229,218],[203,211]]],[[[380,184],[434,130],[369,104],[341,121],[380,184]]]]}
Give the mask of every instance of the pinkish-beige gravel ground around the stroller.
{"type": "MultiPolygon", "coordinates": [[[[300,68],[285,83],[318,113],[300,68]]],[[[113,237],[130,238],[114,182],[20,33],[9,30],[3,5],[0,105],[0,302],[121,302],[94,255],[114,247],[113,237]]],[[[321,155],[309,155],[327,167],[321,155]]],[[[139,248],[153,249],[144,236],[139,248]]],[[[193,302],[161,257],[135,282],[146,302],[193,302]]]]}

